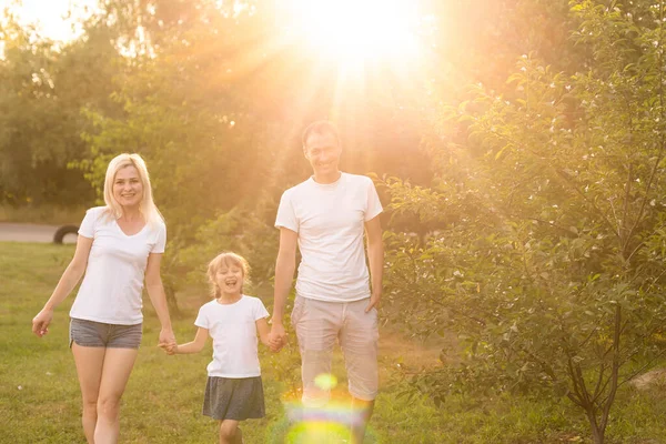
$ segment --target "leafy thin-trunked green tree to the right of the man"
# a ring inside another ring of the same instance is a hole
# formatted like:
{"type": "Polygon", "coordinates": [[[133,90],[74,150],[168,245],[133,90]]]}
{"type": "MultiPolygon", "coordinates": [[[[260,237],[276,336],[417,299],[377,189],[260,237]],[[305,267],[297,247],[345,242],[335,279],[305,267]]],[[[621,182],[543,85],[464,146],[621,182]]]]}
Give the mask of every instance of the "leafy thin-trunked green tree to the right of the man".
{"type": "Polygon", "coordinates": [[[437,400],[452,379],[547,387],[603,443],[617,390],[663,354],[664,3],[572,3],[587,67],[523,56],[512,91],[475,85],[440,109],[433,186],[386,181],[394,211],[443,226],[425,245],[387,239],[391,293],[417,301],[396,302],[402,314],[466,343],[463,366],[425,375],[437,400]]]}

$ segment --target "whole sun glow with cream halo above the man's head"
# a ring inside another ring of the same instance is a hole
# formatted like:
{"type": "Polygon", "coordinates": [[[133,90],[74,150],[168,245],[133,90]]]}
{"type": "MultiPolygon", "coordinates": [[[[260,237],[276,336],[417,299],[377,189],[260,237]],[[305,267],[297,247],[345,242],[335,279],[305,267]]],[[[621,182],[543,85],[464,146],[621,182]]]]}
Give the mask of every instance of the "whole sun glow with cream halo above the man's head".
{"type": "Polygon", "coordinates": [[[285,91],[285,113],[327,119],[350,134],[377,115],[397,121],[430,82],[438,27],[431,1],[274,0],[278,32],[260,52],[281,65],[273,81],[299,79],[285,91]]]}

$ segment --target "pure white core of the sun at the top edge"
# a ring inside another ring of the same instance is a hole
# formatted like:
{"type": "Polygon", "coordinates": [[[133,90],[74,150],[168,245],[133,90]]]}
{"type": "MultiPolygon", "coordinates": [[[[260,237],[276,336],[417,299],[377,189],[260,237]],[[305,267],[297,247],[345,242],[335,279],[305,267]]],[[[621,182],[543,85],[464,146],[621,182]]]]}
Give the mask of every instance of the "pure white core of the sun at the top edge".
{"type": "Polygon", "coordinates": [[[300,40],[341,63],[403,61],[418,52],[415,0],[287,0],[300,40]]]}

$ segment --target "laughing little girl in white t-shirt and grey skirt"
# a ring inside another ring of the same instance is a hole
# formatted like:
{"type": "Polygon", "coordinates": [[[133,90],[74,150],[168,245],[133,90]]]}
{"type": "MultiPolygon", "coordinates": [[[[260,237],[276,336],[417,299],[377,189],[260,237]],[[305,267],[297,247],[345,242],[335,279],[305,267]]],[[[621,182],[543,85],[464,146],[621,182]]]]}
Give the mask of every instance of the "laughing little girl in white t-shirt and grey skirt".
{"type": "Polygon", "coordinates": [[[220,421],[220,443],[242,443],[239,422],[264,413],[256,332],[270,346],[269,312],[259,297],[243,294],[248,261],[222,253],[211,261],[208,276],[214,300],[199,310],[194,341],[168,347],[169,354],[200,352],[210,335],[213,361],[208,365],[203,414],[220,421]]]}

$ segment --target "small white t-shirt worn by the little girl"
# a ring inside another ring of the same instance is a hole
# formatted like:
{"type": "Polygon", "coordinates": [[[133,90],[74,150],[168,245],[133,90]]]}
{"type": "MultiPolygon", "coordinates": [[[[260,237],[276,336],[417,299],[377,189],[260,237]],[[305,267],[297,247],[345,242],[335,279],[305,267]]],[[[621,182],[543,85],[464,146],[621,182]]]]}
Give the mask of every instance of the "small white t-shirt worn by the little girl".
{"type": "Polygon", "coordinates": [[[199,309],[194,325],[206,329],[213,339],[209,376],[254,377],[261,375],[256,321],[269,317],[259,297],[242,295],[233,304],[213,300],[199,309]]]}

